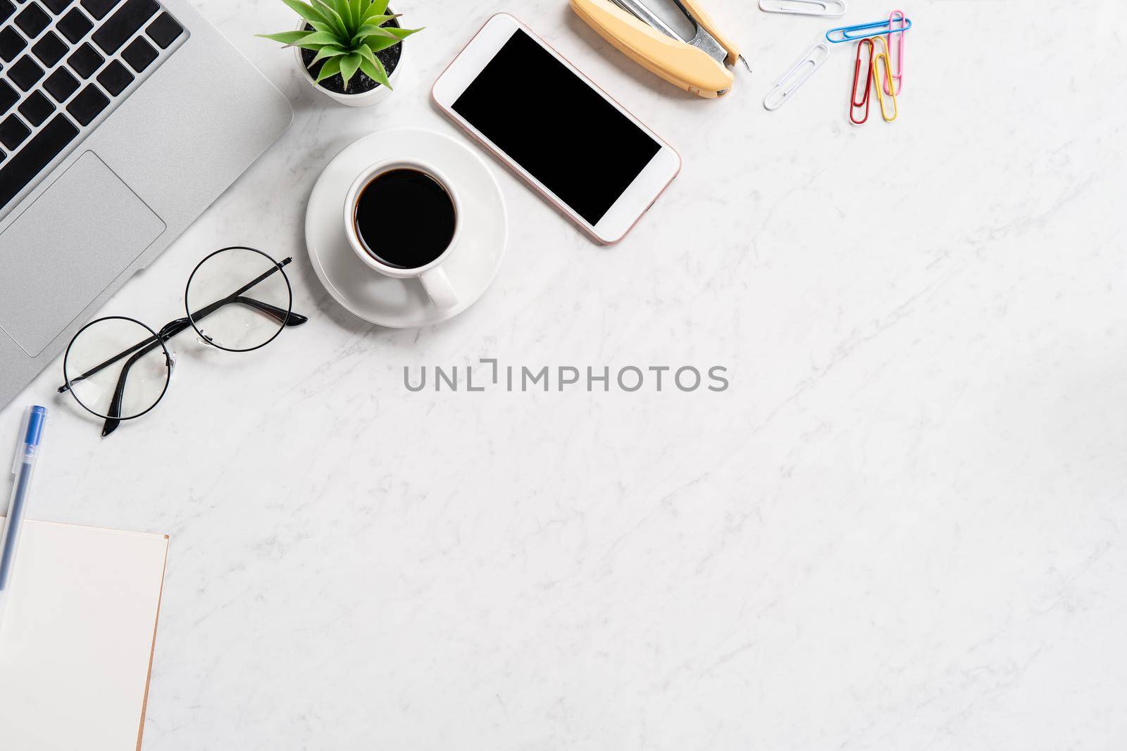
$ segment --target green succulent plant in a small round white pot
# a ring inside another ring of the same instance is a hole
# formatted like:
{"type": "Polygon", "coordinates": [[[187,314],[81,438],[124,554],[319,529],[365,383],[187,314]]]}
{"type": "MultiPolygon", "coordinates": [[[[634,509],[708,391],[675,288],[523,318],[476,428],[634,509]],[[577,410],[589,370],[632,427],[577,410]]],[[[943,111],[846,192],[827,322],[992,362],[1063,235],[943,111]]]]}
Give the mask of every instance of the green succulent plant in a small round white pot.
{"type": "Polygon", "coordinates": [[[388,0],[282,0],[301,16],[294,32],[259,34],[294,47],[309,82],[348,105],[374,105],[391,92],[402,62],[402,28],[388,0]]]}

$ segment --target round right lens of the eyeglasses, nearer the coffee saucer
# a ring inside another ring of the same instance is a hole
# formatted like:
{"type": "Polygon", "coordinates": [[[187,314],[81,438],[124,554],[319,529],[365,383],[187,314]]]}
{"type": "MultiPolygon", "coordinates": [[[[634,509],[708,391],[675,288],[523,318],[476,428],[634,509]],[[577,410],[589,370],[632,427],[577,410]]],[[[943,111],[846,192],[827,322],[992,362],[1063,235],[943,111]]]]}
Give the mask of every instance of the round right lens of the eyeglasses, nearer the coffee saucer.
{"type": "Polygon", "coordinates": [[[293,305],[282,267],[252,248],[224,248],[192,272],[184,301],[192,327],[207,343],[233,352],[278,336],[293,305]]]}

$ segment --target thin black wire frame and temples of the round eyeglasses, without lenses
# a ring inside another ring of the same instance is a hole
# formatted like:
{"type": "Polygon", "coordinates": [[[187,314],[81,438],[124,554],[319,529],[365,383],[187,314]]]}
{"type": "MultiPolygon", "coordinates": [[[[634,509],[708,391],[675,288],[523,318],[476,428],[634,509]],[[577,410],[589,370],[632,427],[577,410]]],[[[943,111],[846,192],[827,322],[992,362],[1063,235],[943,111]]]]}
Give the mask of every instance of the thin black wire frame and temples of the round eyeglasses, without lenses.
{"type": "Polygon", "coordinates": [[[73,337],[71,337],[70,342],[66,345],[66,351],[63,355],[63,378],[65,381],[65,384],[62,385],[62,386],[60,386],[59,390],[57,390],[57,392],[60,394],[70,392],[71,396],[74,397],[74,401],[78,402],[79,406],[81,406],[83,410],[86,410],[90,414],[92,414],[92,415],[95,415],[97,418],[104,419],[105,420],[105,424],[103,426],[103,431],[101,431],[103,437],[108,436],[109,433],[114,432],[114,430],[116,430],[117,427],[123,421],[125,421],[125,420],[135,420],[136,418],[140,418],[140,417],[142,417],[144,414],[148,414],[154,406],[157,406],[157,404],[160,403],[160,401],[162,399],[165,399],[165,394],[168,393],[168,386],[169,386],[169,384],[171,383],[171,379],[172,379],[172,366],[175,365],[176,360],[172,357],[171,352],[168,351],[168,348],[165,346],[165,342],[168,341],[169,339],[171,339],[172,337],[177,336],[178,333],[181,333],[183,331],[186,331],[189,327],[195,330],[195,332],[199,336],[201,340],[203,340],[205,343],[207,343],[207,345],[210,345],[212,347],[215,347],[216,349],[222,349],[222,350],[229,351],[229,352],[250,352],[250,351],[254,351],[256,349],[261,349],[266,345],[268,345],[272,341],[274,341],[277,338],[277,336],[279,333],[282,333],[282,330],[285,329],[286,327],[301,325],[302,323],[305,323],[307,321],[309,321],[308,318],[305,318],[304,315],[301,315],[300,313],[295,313],[292,310],[293,309],[293,286],[290,284],[290,277],[286,275],[285,268],[284,268],[285,266],[290,265],[292,261],[293,261],[293,259],[289,258],[289,257],[285,258],[285,259],[283,259],[283,260],[281,260],[281,261],[276,261],[268,253],[265,253],[265,252],[258,250],[257,248],[249,248],[249,247],[246,247],[246,245],[228,245],[227,248],[220,248],[219,250],[208,253],[192,270],[192,274],[188,276],[188,281],[187,281],[187,284],[184,287],[184,310],[185,310],[185,313],[187,313],[186,318],[180,318],[180,319],[176,319],[175,321],[169,321],[163,327],[161,327],[161,329],[160,329],[159,332],[158,331],[153,331],[148,324],[142,323],[141,321],[137,321],[136,319],[132,319],[132,318],[128,318],[128,316],[125,316],[125,315],[106,315],[106,316],[103,316],[100,319],[96,319],[94,321],[90,321],[89,323],[87,323],[86,325],[83,325],[81,329],[79,329],[78,332],[73,337]],[[198,311],[196,311],[195,313],[193,313],[192,310],[188,307],[188,289],[190,289],[190,287],[192,287],[192,280],[195,278],[195,275],[199,270],[199,268],[205,262],[207,262],[208,259],[213,258],[214,256],[216,256],[219,253],[222,253],[222,252],[229,251],[229,250],[249,250],[249,251],[259,253],[260,256],[263,256],[264,258],[266,258],[270,262],[270,268],[269,268],[269,270],[263,272],[261,275],[259,275],[258,277],[256,277],[255,279],[252,279],[248,284],[241,286],[239,289],[234,290],[233,293],[231,293],[227,297],[222,297],[222,298],[220,298],[220,299],[218,299],[218,301],[215,301],[213,303],[210,303],[210,304],[203,306],[202,309],[199,309],[198,311]],[[282,279],[285,281],[285,285],[286,285],[286,293],[287,293],[289,298],[290,298],[290,303],[289,303],[289,309],[287,310],[283,310],[283,309],[281,309],[281,307],[278,307],[276,305],[270,305],[269,303],[264,303],[261,301],[257,301],[257,299],[254,299],[251,297],[245,297],[245,296],[242,296],[242,293],[245,293],[248,289],[250,289],[256,284],[258,284],[259,281],[264,280],[266,277],[273,275],[275,271],[281,271],[282,272],[282,279]],[[252,307],[252,309],[255,309],[255,310],[257,310],[257,311],[259,311],[261,313],[265,313],[266,315],[269,315],[270,318],[277,320],[282,325],[279,325],[278,330],[274,332],[274,336],[272,336],[266,341],[264,341],[264,342],[261,342],[259,345],[256,345],[255,347],[248,347],[246,349],[231,349],[229,347],[223,347],[221,345],[216,345],[215,341],[211,337],[208,337],[207,334],[205,334],[199,329],[199,327],[196,325],[196,322],[197,321],[202,321],[204,318],[206,318],[207,315],[211,315],[215,311],[222,309],[224,305],[229,305],[229,304],[233,304],[233,303],[248,305],[249,307],[252,307]],[[128,321],[131,323],[136,323],[137,325],[140,325],[142,329],[144,329],[145,331],[148,331],[152,336],[149,337],[149,338],[147,338],[147,339],[144,339],[144,340],[142,340],[142,341],[140,341],[140,342],[137,342],[136,345],[134,345],[133,347],[126,349],[125,351],[122,351],[122,352],[118,352],[117,355],[114,355],[113,357],[110,357],[107,360],[103,361],[101,364],[95,366],[94,368],[87,370],[86,373],[82,373],[81,375],[79,375],[79,376],[77,376],[74,378],[71,378],[68,375],[68,370],[66,370],[66,361],[70,358],[71,347],[74,346],[74,342],[82,334],[82,332],[86,331],[87,329],[89,329],[90,327],[95,325],[96,323],[101,323],[104,321],[115,321],[115,320],[117,320],[117,321],[128,321]],[[125,381],[128,377],[130,368],[132,368],[133,364],[136,363],[141,357],[143,357],[143,356],[148,355],[150,351],[152,351],[156,348],[157,345],[160,346],[161,350],[165,354],[165,366],[167,368],[167,376],[165,378],[165,387],[161,390],[160,395],[156,399],[156,401],[153,401],[152,404],[150,404],[142,412],[137,412],[136,414],[131,414],[131,415],[124,417],[124,418],[119,417],[119,415],[118,417],[113,417],[113,412],[115,410],[117,410],[117,411],[121,410],[121,400],[123,399],[123,395],[124,395],[124,392],[125,392],[125,381]],[[78,394],[74,393],[73,384],[78,383],[79,381],[86,379],[87,377],[94,375],[95,373],[98,373],[98,372],[103,370],[104,368],[109,367],[114,363],[121,360],[123,357],[126,357],[126,356],[130,356],[130,355],[132,355],[132,357],[125,363],[125,365],[122,367],[122,373],[118,375],[117,386],[114,390],[114,396],[110,400],[109,410],[107,410],[109,412],[109,414],[104,414],[101,412],[98,412],[98,411],[96,411],[96,410],[87,406],[85,403],[82,403],[82,400],[79,399],[78,394]]]}

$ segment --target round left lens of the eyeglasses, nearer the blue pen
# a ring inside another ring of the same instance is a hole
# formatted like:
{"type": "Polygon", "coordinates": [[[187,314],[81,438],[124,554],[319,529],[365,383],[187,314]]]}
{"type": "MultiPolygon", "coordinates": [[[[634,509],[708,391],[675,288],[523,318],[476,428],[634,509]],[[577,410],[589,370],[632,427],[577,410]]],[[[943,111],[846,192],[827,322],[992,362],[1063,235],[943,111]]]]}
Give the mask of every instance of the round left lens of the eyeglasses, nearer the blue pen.
{"type": "Polygon", "coordinates": [[[100,418],[131,420],[160,401],[172,358],[140,321],[105,318],[83,327],[63,359],[63,376],[78,403],[100,418]]]}

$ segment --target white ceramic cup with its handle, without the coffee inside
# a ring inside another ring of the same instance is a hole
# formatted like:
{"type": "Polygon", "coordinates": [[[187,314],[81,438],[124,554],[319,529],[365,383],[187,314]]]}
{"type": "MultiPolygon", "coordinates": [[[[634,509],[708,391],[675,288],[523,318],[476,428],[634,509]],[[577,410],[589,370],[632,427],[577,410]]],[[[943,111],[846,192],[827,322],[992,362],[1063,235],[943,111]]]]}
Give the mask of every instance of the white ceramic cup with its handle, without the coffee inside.
{"type": "Polygon", "coordinates": [[[411,160],[399,159],[376,162],[375,164],[364,169],[356,180],[353,181],[352,187],[348,188],[344,207],[345,236],[348,238],[348,244],[352,245],[356,256],[370,268],[397,279],[417,278],[423,283],[423,288],[426,290],[426,294],[429,295],[431,302],[434,303],[434,306],[440,311],[447,311],[458,305],[459,297],[458,293],[454,290],[454,286],[450,283],[450,278],[446,276],[446,271],[442,268],[442,265],[458,245],[458,235],[461,231],[461,216],[462,204],[458,198],[458,191],[454,190],[454,186],[440,170],[435,169],[431,164],[424,164],[411,160]],[[366,188],[372,180],[385,172],[397,169],[418,170],[419,172],[434,178],[446,190],[446,195],[450,196],[451,202],[454,204],[454,234],[450,239],[450,244],[446,245],[446,249],[442,251],[437,258],[425,266],[417,268],[399,268],[384,263],[367,250],[356,231],[356,203],[360,200],[361,193],[363,193],[364,188],[366,188]]]}

